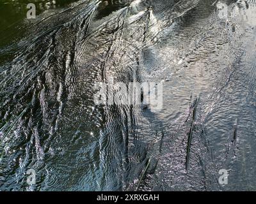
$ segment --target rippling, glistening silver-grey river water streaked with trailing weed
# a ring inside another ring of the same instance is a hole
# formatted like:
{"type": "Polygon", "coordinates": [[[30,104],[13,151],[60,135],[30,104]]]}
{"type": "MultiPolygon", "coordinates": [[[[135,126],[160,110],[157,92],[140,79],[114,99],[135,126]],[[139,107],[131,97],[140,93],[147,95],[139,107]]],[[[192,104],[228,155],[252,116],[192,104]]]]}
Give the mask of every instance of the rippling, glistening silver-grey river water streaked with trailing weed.
{"type": "Polygon", "coordinates": [[[0,33],[0,190],[256,190],[255,19],[253,0],[83,0],[0,33]],[[95,105],[112,78],[163,82],[163,108],[95,105]]]}

